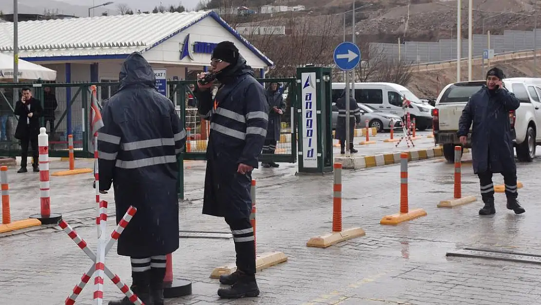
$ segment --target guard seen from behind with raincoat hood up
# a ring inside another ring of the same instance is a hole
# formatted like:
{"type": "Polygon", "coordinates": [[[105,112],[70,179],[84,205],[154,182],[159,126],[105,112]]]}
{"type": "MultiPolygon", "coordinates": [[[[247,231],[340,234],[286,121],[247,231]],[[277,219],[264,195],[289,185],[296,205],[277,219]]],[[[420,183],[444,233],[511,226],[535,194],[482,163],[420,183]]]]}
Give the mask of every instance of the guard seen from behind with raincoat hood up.
{"type": "MultiPolygon", "coordinates": [[[[118,239],[131,259],[132,290],[145,304],[163,304],[166,255],[179,248],[176,154],[186,131],[175,106],[155,88],[150,64],[133,53],[122,64],[120,89],[102,111],[98,131],[100,191],[115,190],[116,221],[137,213],[118,239]]],[[[130,305],[127,297],[109,305],[130,305]]]]}

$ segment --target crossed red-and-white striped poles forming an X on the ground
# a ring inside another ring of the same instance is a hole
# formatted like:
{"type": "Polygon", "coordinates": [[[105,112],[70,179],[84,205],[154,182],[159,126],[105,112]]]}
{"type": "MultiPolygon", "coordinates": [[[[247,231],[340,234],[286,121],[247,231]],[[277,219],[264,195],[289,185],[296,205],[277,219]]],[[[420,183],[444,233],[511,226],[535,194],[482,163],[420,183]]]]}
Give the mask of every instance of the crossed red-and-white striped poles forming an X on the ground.
{"type": "MultiPolygon", "coordinates": [[[[120,223],[118,223],[118,226],[115,229],[115,231],[111,233],[111,239],[107,243],[107,246],[105,246],[106,254],[107,252],[109,252],[111,248],[113,248],[114,243],[117,241],[118,237],[120,237],[120,235],[122,234],[122,231],[124,231],[124,229],[126,228],[126,226],[128,225],[131,218],[135,215],[136,212],[137,212],[137,209],[133,206],[131,206],[128,209],[128,211],[126,212],[126,214],[124,215],[120,223]]],[[[62,230],[64,230],[64,232],[68,234],[68,236],[72,239],[72,241],[74,241],[77,244],[77,246],[81,248],[81,250],[83,250],[83,252],[92,261],[94,262],[96,261],[96,255],[94,254],[94,252],[88,248],[87,243],[84,241],[84,239],[78,236],[77,232],[75,232],[75,230],[73,230],[68,223],[62,220],[60,222],[60,228],[62,228],[62,230]]],[[[66,305],[75,304],[75,300],[77,296],[81,293],[84,286],[90,280],[90,277],[94,273],[95,268],[96,268],[96,264],[92,264],[88,272],[82,276],[81,282],[77,284],[75,288],[73,289],[73,294],[65,300],[66,305]]],[[[107,277],[110,278],[110,280],[116,285],[116,287],[118,287],[118,289],[120,289],[120,291],[122,291],[122,293],[129,298],[130,302],[134,303],[135,305],[144,305],[143,302],[133,293],[133,291],[130,290],[128,285],[122,282],[122,280],[120,279],[120,277],[118,277],[118,275],[113,274],[113,272],[105,266],[103,267],[103,270],[104,270],[105,275],[107,275],[107,277]]]]}

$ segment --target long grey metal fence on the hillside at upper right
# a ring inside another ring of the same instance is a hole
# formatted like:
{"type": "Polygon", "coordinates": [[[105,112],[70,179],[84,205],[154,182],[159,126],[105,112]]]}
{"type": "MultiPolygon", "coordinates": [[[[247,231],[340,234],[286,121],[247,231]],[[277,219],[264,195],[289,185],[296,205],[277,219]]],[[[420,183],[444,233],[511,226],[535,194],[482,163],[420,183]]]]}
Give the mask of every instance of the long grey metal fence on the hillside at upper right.
{"type": "MultiPolygon", "coordinates": [[[[468,56],[468,40],[461,40],[461,58],[468,56]]],[[[483,50],[489,48],[489,35],[473,35],[472,56],[483,56],[483,50]]],[[[505,30],[504,35],[490,35],[490,48],[494,54],[510,53],[541,48],[541,29],[534,31],[505,30]],[[534,44],[534,37],[536,43],[534,44]]],[[[407,41],[398,43],[370,43],[370,48],[381,50],[386,60],[400,60],[415,63],[450,61],[457,59],[457,40],[440,39],[438,42],[407,41]]]]}

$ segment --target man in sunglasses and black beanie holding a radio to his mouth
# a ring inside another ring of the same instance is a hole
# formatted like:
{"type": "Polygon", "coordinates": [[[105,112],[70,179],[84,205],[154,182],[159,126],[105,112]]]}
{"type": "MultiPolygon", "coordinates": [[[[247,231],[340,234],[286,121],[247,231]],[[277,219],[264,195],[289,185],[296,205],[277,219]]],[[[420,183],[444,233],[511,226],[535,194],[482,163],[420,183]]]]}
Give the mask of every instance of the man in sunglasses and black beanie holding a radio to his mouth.
{"type": "Polygon", "coordinates": [[[212,73],[221,85],[212,98],[212,82],[202,85],[198,75],[195,95],[199,113],[210,120],[203,214],[224,217],[235,242],[237,270],[220,276],[232,285],[219,289],[222,298],[259,295],[255,281],[254,229],[250,224],[252,170],[258,168],[265,142],[268,106],[265,88],[232,42],[217,44],[211,57],[212,73]],[[217,105],[215,108],[214,105],[217,105]]]}

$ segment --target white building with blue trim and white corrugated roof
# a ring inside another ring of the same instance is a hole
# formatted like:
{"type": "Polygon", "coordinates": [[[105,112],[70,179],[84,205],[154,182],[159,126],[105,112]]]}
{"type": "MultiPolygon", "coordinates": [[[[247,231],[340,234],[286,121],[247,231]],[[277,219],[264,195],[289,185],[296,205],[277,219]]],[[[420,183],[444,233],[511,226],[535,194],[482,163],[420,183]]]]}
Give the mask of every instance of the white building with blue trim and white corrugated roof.
{"type": "MultiPolygon", "coordinates": [[[[13,24],[0,23],[0,53],[13,54],[13,24]]],[[[215,44],[229,40],[257,76],[264,77],[273,62],[239,35],[213,11],[100,16],[19,22],[19,57],[57,71],[56,82],[116,82],[122,61],[140,51],[155,70],[165,69],[168,80],[184,80],[190,70],[206,70],[215,44]]],[[[57,89],[58,115],[74,89],[57,89]]],[[[103,87],[98,99],[113,89],[103,87]]],[[[59,126],[74,136],[82,128],[78,98],[59,126]],[[81,123],[78,123],[81,122],[81,123]]]]}

